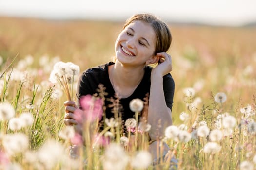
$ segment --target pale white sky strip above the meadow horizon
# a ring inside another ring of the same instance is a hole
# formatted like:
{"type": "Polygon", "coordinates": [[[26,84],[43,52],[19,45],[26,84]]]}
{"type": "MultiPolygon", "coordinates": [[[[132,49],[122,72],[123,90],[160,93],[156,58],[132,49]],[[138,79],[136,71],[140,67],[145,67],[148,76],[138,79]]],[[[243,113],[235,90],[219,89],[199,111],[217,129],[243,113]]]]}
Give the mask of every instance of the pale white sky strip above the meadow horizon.
{"type": "Polygon", "coordinates": [[[0,0],[0,16],[125,21],[141,12],[171,22],[239,26],[256,21],[256,0],[0,0]]]}

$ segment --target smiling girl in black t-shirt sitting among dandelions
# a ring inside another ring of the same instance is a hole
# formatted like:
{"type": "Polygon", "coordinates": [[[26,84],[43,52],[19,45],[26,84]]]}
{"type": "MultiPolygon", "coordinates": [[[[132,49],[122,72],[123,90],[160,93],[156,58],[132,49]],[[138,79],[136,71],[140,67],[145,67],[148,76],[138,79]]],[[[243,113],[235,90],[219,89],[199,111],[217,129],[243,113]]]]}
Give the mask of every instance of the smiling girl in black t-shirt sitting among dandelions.
{"type": "MultiPolygon", "coordinates": [[[[134,117],[135,113],[129,108],[131,100],[145,100],[149,95],[146,117],[147,123],[151,125],[149,136],[153,141],[150,145],[153,156],[156,155],[154,141],[164,136],[165,128],[172,125],[175,84],[170,74],[172,59],[166,53],[171,41],[167,24],[158,17],[151,14],[134,15],[125,22],[115,42],[115,62],[87,69],[78,82],[78,101],[84,95],[97,93],[99,84],[104,85],[106,99],[119,99],[123,121],[134,117]],[[148,66],[157,63],[154,68],[148,66]]],[[[105,101],[106,118],[113,117],[109,102],[105,101]]],[[[79,127],[73,114],[78,106],[73,101],[66,101],[64,105],[64,123],[79,127]]]]}

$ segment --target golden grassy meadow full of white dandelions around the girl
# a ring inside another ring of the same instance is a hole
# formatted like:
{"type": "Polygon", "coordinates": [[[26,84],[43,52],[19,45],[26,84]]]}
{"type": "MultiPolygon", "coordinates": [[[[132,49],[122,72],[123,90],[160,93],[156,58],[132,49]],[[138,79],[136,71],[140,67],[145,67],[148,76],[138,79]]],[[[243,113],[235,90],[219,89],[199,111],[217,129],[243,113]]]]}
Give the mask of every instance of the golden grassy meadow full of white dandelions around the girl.
{"type": "MultiPolygon", "coordinates": [[[[110,61],[122,24],[0,17],[0,168],[168,170],[175,156],[178,170],[255,170],[256,27],[169,23],[173,125],[157,142],[171,152],[157,165],[147,153],[145,129],[131,134],[139,138],[135,147],[110,120],[97,137],[63,125],[67,96],[49,80],[54,65],[71,62],[81,74],[110,61]],[[107,143],[98,142],[102,137],[107,143]],[[87,147],[70,154],[81,138],[87,147]]],[[[68,84],[73,99],[78,74],[68,84]]],[[[92,124],[97,128],[98,119],[92,124]]]]}

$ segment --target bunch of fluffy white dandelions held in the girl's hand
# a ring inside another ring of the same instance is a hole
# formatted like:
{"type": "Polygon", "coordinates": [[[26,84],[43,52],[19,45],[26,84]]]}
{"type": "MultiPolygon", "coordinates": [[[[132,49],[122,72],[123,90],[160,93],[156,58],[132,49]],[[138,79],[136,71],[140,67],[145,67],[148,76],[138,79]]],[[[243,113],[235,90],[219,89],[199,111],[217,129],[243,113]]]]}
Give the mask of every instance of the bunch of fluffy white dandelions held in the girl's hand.
{"type": "Polygon", "coordinates": [[[74,63],[62,61],[57,62],[50,74],[50,82],[56,84],[57,82],[63,87],[68,100],[73,101],[74,78],[79,75],[80,68],[74,63]],[[72,94],[70,94],[70,91],[72,94]]]}

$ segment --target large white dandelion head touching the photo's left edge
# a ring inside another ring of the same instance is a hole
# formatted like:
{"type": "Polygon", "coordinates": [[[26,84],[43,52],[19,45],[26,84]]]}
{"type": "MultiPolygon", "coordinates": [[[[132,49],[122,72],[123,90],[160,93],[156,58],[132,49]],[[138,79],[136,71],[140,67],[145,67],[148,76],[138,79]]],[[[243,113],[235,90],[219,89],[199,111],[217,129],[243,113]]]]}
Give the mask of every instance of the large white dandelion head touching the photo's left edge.
{"type": "Polygon", "coordinates": [[[0,120],[6,121],[14,117],[15,110],[8,102],[0,103],[0,120]]]}

